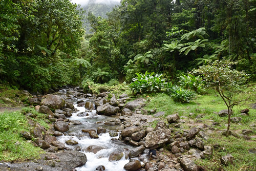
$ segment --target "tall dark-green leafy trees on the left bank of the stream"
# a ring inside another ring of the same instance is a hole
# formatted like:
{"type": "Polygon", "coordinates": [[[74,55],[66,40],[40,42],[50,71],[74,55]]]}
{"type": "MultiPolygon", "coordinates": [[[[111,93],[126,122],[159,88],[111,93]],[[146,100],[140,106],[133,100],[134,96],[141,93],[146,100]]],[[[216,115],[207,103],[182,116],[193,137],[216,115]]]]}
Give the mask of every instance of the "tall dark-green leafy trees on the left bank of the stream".
{"type": "Polygon", "coordinates": [[[69,83],[84,33],[76,8],[69,0],[1,1],[1,83],[32,91],[69,83]]]}

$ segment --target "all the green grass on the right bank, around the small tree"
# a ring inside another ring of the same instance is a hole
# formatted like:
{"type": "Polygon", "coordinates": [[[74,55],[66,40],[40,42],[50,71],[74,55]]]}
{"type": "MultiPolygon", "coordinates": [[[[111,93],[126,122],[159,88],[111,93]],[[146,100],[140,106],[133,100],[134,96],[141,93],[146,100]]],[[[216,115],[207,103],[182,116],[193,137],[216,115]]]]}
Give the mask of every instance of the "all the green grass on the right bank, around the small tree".
{"type": "MultiPolygon", "coordinates": [[[[255,91],[253,91],[253,85],[248,87],[244,94],[237,96],[237,98],[244,99],[249,95],[252,95],[252,101],[249,99],[247,102],[241,103],[238,106],[233,107],[233,114],[231,117],[241,117],[242,121],[240,123],[231,123],[230,131],[241,134],[244,129],[250,129],[253,131],[252,135],[256,134],[256,129],[253,129],[250,125],[256,123],[256,110],[251,109],[249,104],[253,103],[253,96],[255,97],[255,91]],[[248,92],[251,92],[249,94],[248,92]],[[253,95],[254,93],[254,95],[253,95]],[[250,110],[249,115],[240,115],[240,111],[248,108],[250,110]]],[[[211,125],[213,122],[219,122],[221,126],[216,125],[216,130],[226,130],[228,116],[220,117],[216,114],[223,109],[227,109],[224,101],[221,99],[219,94],[215,93],[213,90],[207,90],[207,94],[198,96],[196,99],[192,100],[190,103],[176,103],[168,95],[164,93],[159,93],[155,95],[149,95],[151,97],[151,102],[148,102],[145,106],[146,110],[157,109],[157,112],[163,111],[165,119],[168,115],[178,113],[179,116],[186,116],[187,122],[194,120],[196,122],[196,116],[198,114],[204,114],[202,123],[211,125]],[[189,113],[194,113],[193,116],[189,116],[189,113]],[[212,120],[212,121],[209,121],[212,120]]],[[[154,122],[153,125],[156,125],[154,122]]],[[[188,127],[183,124],[183,127],[187,129],[188,127]]],[[[178,129],[175,128],[177,131],[178,129]]],[[[206,144],[213,146],[218,143],[221,147],[225,147],[225,150],[215,149],[214,155],[211,159],[201,159],[197,160],[197,164],[202,165],[206,170],[218,170],[222,167],[224,170],[256,170],[256,155],[250,154],[248,150],[250,148],[256,147],[256,139],[245,140],[242,137],[236,138],[233,136],[225,137],[220,135],[220,133],[215,132],[212,134],[211,139],[206,142],[206,144]],[[229,166],[223,166],[220,162],[221,156],[231,154],[234,157],[234,164],[229,166]]]]}

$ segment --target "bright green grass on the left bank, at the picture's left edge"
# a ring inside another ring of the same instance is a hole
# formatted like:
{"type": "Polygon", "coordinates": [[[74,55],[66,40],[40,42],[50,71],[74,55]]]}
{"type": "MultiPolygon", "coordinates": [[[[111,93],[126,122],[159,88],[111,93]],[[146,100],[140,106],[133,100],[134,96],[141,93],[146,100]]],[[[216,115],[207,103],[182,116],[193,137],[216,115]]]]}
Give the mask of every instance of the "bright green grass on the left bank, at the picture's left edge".
{"type": "MultiPolygon", "coordinates": [[[[42,117],[37,115],[33,120],[42,124],[42,117]]],[[[46,126],[46,123],[42,125],[46,126]]],[[[0,161],[24,161],[39,158],[42,149],[33,146],[19,134],[21,131],[29,132],[29,128],[27,118],[22,112],[0,113],[0,161]]]]}

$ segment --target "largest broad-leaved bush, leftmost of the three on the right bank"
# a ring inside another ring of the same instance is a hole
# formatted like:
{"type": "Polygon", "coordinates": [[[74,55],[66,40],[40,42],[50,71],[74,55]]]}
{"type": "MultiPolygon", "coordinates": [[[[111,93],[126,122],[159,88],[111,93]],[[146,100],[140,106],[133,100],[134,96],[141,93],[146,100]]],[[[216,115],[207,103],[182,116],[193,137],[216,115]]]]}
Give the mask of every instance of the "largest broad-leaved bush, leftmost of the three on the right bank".
{"type": "Polygon", "coordinates": [[[136,73],[137,77],[133,78],[133,82],[130,84],[130,88],[133,93],[153,93],[160,92],[162,88],[167,84],[165,79],[161,78],[162,74],[156,74],[153,76],[153,73],[145,74],[136,73]]]}

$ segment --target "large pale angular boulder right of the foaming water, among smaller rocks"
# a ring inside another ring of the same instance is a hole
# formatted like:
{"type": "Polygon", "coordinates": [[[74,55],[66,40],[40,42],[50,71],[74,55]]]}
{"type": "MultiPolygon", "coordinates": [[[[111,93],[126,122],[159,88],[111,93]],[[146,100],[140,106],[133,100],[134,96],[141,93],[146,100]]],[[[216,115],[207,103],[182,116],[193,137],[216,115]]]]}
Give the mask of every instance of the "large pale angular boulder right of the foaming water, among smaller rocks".
{"type": "Polygon", "coordinates": [[[157,131],[150,132],[145,137],[145,147],[159,147],[165,144],[171,135],[171,131],[169,129],[161,129],[157,131]]]}

